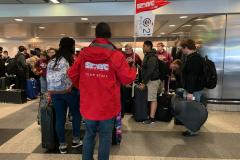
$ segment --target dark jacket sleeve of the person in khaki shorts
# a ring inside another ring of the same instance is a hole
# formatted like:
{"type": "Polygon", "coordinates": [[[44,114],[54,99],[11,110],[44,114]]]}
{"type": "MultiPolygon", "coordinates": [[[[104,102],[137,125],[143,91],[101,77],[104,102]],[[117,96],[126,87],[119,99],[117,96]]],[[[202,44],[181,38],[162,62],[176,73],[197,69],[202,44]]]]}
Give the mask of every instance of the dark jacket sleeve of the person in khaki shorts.
{"type": "Polygon", "coordinates": [[[151,56],[151,57],[148,58],[146,63],[147,63],[146,64],[147,67],[145,68],[145,71],[142,74],[142,76],[143,76],[142,77],[142,83],[145,84],[145,85],[151,80],[153,72],[155,70],[155,66],[157,65],[158,61],[157,61],[156,58],[151,56]]]}

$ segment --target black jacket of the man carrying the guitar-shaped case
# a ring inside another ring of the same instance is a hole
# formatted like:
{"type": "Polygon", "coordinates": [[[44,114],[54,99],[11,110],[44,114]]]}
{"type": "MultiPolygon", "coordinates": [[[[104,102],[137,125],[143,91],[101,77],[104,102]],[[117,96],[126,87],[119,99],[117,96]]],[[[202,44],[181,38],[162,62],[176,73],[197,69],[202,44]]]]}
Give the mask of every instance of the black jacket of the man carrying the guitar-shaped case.
{"type": "Polygon", "coordinates": [[[197,52],[187,56],[183,68],[183,87],[189,93],[204,89],[203,58],[197,52]]]}

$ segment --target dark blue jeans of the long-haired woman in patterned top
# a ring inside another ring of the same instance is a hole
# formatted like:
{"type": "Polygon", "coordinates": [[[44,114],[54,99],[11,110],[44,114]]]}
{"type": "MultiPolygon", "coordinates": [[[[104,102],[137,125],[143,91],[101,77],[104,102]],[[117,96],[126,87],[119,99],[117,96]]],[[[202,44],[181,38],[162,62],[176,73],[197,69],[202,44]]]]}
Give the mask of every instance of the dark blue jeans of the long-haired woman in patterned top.
{"type": "Polygon", "coordinates": [[[67,107],[72,114],[72,125],[73,125],[73,138],[80,139],[80,125],[81,115],[79,111],[79,96],[75,90],[66,94],[53,94],[51,96],[54,109],[56,112],[56,131],[60,144],[66,143],[65,141],[65,122],[67,107]]]}

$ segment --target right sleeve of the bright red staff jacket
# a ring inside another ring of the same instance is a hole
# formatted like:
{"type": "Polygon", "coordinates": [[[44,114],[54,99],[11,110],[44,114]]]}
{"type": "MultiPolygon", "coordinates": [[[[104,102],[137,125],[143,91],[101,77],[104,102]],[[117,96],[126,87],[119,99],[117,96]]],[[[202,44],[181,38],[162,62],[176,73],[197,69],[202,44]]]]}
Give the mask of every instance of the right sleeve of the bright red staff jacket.
{"type": "Polygon", "coordinates": [[[115,66],[117,78],[123,85],[130,84],[136,79],[136,69],[130,68],[122,54],[115,57],[115,60],[113,59],[113,64],[117,64],[117,66],[115,66]],[[114,61],[118,61],[118,63],[114,63],[114,61]]]}

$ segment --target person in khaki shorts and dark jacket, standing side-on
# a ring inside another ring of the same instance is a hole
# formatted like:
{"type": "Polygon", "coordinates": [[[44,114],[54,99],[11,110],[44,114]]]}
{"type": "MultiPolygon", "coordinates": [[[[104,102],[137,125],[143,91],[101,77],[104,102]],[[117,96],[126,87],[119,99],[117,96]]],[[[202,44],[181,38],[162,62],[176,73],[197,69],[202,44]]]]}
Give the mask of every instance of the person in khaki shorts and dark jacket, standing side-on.
{"type": "Polygon", "coordinates": [[[160,85],[159,64],[156,56],[156,50],[153,49],[151,41],[145,41],[143,44],[143,67],[142,67],[142,83],[139,88],[144,90],[148,88],[148,101],[150,102],[149,119],[143,121],[144,124],[155,122],[155,113],[157,110],[157,91],[160,85]]]}

